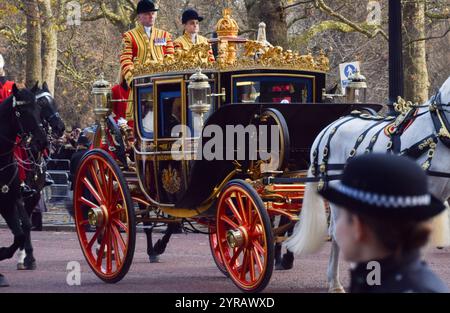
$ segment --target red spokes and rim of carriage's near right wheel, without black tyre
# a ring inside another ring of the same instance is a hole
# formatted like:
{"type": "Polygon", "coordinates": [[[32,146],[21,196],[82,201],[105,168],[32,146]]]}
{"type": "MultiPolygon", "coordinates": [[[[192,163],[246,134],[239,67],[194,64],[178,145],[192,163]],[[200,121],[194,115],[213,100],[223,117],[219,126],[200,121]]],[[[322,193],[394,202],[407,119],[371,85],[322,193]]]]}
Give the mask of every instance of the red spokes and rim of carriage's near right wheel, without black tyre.
{"type": "Polygon", "coordinates": [[[256,289],[267,270],[268,242],[256,203],[238,185],[226,189],[219,200],[217,236],[222,260],[233,281],[244,290],[256,289]],[[227,239],[231,233],[242,240],[227,239]]]}

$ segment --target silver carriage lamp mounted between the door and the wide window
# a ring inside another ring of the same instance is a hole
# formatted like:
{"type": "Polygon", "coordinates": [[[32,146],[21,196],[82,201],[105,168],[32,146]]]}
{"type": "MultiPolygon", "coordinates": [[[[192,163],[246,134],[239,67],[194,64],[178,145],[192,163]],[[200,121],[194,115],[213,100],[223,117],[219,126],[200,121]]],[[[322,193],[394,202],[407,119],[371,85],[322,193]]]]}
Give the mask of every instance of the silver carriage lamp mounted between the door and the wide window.
{"type": "Polygon", "coordinates": [[[208,76],[203,74],[200,68],[189,77],[189,109],[200,118],[198,128],[194,122],[194,134],[197,134],[199,130],[201,131],[205,123],[204,115],[211,109],[211,85],[208,80],[208,76]]]}

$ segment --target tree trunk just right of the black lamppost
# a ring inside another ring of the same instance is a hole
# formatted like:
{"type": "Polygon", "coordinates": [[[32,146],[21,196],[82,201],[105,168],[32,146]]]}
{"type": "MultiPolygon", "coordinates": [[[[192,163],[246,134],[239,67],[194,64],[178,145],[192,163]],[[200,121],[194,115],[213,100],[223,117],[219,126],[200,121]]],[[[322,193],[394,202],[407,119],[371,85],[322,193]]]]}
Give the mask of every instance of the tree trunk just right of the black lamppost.
{"type": "Polygon", "coordinates": [[[430,87],[425,32],[425,1],[404,1],[403,26],[405,31],[404,73],[405,99],[417,103],[428,100],[430,87]]]}

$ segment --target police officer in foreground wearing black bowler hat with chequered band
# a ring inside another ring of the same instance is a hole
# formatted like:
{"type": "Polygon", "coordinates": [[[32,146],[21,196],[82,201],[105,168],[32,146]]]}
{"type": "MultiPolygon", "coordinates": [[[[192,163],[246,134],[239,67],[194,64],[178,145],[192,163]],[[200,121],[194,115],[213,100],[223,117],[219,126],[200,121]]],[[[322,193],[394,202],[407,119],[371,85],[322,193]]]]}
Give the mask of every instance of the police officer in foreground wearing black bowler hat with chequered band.
{"type": "Polygon", "coordinates": [[[449,292],[421,260],[428,221],[445,206],[429,193],[416,163],[386,154],[357,157],[342,181],[320,194],[338,207],[336,240],[344,258],[356,263],[351,292],[449,292]]]}

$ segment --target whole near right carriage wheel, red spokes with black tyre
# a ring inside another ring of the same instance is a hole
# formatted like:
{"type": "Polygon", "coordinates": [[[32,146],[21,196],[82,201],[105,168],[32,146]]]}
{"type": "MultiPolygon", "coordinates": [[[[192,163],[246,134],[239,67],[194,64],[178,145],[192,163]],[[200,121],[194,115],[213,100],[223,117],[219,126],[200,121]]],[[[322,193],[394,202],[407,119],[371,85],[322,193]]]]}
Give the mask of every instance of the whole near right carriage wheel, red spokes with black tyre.
{"type": "Polygon", "coordinates": [[[243,180],[223,189],[217,206],[217,239],[225,267],[244,292],[259,292],[273,271],[270,218],[258,193],[243,180]]]}

